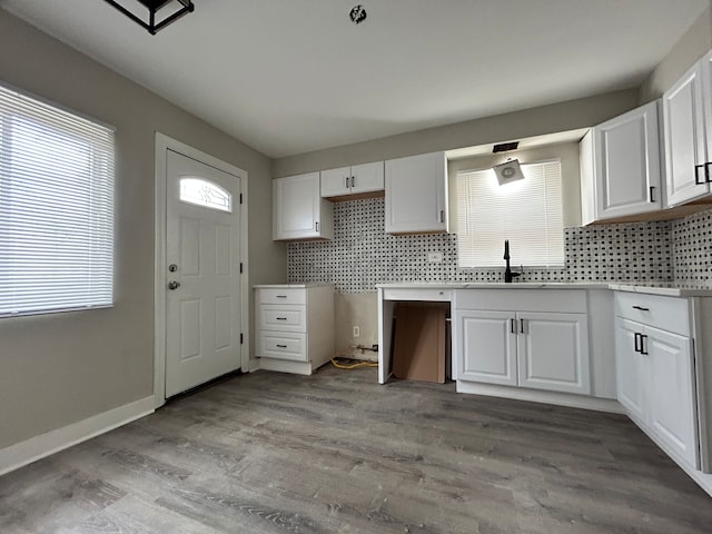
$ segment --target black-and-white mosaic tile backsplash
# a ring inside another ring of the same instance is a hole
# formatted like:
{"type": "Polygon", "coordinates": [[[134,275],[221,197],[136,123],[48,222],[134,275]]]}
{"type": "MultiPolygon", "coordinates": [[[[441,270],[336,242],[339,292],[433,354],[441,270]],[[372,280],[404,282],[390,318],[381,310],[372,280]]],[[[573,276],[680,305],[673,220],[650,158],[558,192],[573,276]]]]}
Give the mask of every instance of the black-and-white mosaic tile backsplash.
{"type": "MultiPolygon", "coordinates": [[[[330,281],[348,294],[390,281],[503,280],[504,260],[502,268],[458,268],[455,234],[390,236],[384,220],[383,198],[335,204],[333,240],[288,244],[289,281],[330,281]],[[427,261],[434,251],[442,263],[427,261]]],[[[520,280],[710,285],[711,241],[712,210],[675,221],[565,228],[564,267],[524,268],[520,280]]]]}

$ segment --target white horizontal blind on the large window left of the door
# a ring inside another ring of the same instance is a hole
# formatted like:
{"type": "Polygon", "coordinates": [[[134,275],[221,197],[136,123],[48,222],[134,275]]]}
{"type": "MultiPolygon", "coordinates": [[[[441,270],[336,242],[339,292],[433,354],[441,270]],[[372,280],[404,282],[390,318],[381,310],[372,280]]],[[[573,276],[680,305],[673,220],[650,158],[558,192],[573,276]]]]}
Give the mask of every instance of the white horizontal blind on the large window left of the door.
{"type": "Polygon", "coordinates": [[[0,316],[112,304],[113,131],[0,86],[0,316]]]}

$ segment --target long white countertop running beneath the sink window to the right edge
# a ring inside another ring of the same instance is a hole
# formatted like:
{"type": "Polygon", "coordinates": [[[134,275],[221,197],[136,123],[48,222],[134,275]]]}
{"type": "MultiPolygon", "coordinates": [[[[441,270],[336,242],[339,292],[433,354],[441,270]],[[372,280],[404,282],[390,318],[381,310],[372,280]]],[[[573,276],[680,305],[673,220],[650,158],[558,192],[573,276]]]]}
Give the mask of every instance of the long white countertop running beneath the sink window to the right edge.
{"type": "Polygon", "coordinates": [[[619,281],[513,281],[512,284],[501,281],[403,281],[377,284],[376,287],[383,289],[611,289],[615,291],[644,293],[668,297],[712,297],[712,288],[655,281],[644,281],[640,285],[619,281]]]}

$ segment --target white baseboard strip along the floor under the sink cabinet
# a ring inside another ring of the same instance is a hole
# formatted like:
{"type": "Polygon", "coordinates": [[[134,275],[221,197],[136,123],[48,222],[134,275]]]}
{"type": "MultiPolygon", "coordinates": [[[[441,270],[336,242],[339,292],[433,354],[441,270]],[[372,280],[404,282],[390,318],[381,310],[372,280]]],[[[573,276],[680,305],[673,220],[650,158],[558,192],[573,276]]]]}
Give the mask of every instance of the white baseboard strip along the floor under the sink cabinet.
{"type": "Polygon", "coordinates": [[[593,409],[612,414],[624,414],[623,406],[614,398],[589,397],[573,395],[571,393],[540,392],[520,387],[497,386],[494,384],[478,384],[474,382],[457,380],[457,393],[474,395],[488,395],[491,397],[514,398],[531,403],[555,404],[570,408],[593,409]]]}

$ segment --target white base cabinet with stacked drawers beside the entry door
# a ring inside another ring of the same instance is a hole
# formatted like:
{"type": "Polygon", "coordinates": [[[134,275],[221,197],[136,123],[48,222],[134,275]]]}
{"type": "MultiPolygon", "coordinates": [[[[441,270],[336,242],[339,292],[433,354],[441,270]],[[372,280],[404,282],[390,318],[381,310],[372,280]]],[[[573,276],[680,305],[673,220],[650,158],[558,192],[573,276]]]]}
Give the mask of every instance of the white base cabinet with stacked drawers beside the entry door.
{"type": "Polygon", "coordinates": [[[255,286],[255,356],[267,370],[310,375],[334,355],[334,286],[255,286]]]}

